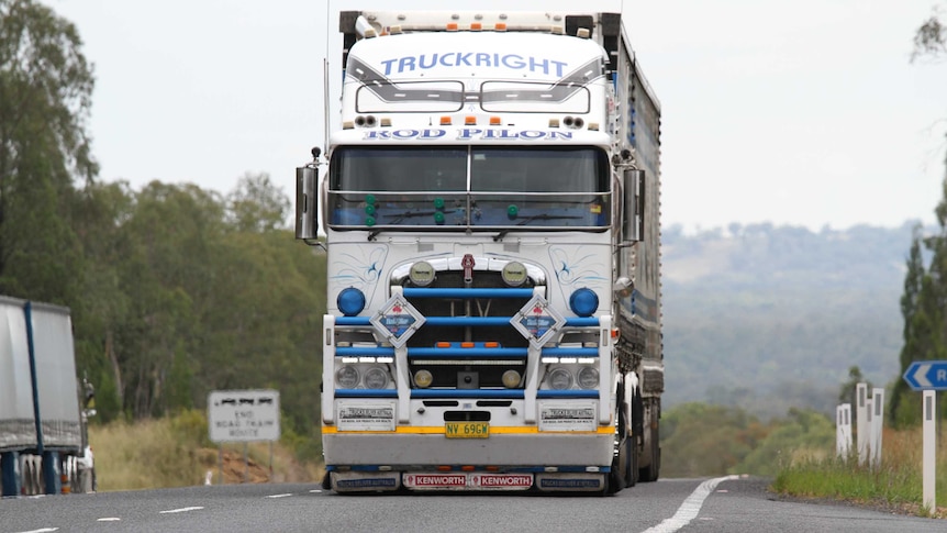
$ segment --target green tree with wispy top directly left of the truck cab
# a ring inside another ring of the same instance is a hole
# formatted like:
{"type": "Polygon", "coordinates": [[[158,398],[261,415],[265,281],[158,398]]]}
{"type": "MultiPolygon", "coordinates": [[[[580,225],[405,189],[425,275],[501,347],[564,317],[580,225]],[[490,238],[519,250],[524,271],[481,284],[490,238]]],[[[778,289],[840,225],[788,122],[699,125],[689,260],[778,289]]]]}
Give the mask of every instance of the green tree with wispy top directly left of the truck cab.
{"type": "Polygon", "coordinates": [[[297,431],[317,427],[325,257],[283,230],[289,199],[266,175],[245,175],[227,195],[229,231],[207,304],[199,386],[268,387],[297,431]]]}

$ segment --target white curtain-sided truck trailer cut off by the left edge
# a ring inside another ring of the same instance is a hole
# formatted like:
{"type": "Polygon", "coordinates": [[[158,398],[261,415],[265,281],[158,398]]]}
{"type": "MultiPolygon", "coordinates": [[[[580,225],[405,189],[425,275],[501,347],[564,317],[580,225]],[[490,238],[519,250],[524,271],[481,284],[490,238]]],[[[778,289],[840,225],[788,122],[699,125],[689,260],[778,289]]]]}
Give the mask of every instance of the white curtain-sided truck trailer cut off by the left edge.
{"type": "Polygon", "coordinates": [[[76,377],[69,309],[0,296],[2,496],[94,489],[92,398],[76,377]]]}

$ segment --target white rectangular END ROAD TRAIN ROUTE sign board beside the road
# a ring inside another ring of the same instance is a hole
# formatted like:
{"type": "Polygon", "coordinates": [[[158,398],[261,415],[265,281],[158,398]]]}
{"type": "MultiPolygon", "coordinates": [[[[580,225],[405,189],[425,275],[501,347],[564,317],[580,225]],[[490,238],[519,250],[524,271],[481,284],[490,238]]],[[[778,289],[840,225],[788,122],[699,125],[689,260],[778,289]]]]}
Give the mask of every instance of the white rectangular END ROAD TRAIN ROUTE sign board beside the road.
{"type": "Polygon", "coordinates": [[[279,440],[279,391],[214,390],[208,395],[211,441],[279,440]]]}

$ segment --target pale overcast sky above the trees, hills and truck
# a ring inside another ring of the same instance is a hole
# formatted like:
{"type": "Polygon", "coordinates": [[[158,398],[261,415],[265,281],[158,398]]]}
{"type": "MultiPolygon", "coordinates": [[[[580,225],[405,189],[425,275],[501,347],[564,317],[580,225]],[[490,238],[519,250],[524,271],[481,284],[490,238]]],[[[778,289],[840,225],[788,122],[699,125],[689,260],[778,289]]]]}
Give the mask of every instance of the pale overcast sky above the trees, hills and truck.
{"type": "MultiPolygon", "coordinates": [[[[323,144],[328,11],[416,0],[45,0],[94,64],[100,179],[222,193],[267,173],[292,196],[323,144]]],[[[449,2],[622,10],[661,101],[662,221],[894,226],[943,197],[947,60],[910,62],[934,0],[449,2]]],[[[947,18],[947,2],[939,2],[947,18]]],[[[390,9],[390,8],[389,8],[390,9]]],[[[339,75],[337,53],[328,54],[339,75]]],[[[333,100],[337,104],[337,100],[333,100]]]]}

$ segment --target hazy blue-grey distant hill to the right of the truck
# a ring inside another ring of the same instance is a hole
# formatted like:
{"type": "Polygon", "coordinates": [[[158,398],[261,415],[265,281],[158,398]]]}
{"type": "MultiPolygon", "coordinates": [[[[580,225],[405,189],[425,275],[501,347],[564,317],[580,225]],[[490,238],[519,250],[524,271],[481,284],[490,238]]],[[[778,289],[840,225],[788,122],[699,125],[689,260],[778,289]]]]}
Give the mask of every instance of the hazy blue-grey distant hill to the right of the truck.
{"type": "Polygon", "coordinates": [[[833,412],[848,369],[901,379],[900,303],[914,222],[662,233],[665,407],[833,412]]]}

